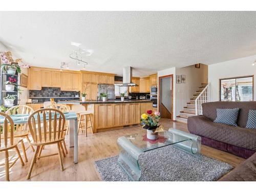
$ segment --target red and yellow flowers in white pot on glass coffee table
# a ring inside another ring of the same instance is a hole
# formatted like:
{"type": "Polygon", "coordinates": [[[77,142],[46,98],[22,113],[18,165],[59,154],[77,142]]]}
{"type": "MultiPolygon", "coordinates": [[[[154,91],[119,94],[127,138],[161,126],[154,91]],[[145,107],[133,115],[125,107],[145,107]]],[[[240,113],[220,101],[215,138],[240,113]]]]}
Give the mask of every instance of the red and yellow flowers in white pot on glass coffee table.
{"type": "Polygon", "coordinates": [[[146,129],[147,139],[155,140],[158,139],[158,132],[164,131],[163,128],[158,125],[159,119],[161,118],[159,112],[153,114],[152,110],[146,111],[146,113],[141,115],[142,128],[146,129]]]}

